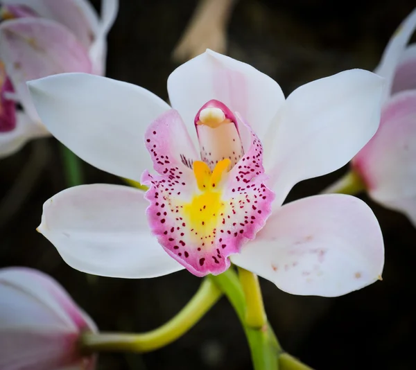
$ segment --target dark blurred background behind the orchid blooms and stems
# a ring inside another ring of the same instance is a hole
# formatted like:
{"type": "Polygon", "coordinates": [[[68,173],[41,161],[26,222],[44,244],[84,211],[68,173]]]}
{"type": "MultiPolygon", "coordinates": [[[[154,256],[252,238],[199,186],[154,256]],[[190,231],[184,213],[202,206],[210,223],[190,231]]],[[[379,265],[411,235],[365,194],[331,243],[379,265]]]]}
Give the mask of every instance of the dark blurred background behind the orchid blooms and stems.
{"type": "MultiPolygon", "coordinates": [[[[108,40],[107,76],[167,98],[166,79],[177,67],[171,53],[195,6],[196,0],[121,0],[108,40]]],[[[241,0],[229,24],[228,54],[267,73],[288,94],[344,69],[374,69],[414,6],[415,0],[241,0]]],[[[83,170],[86,183],[121,183],[88,164],[83,170]]],[[[298,184],[289,198],[313,195],[343,171],[298,184]]],[[[0,172],[0,265],[51,274],[102,331],[155,328],[198,289],[200,279],[186,271],[148,280],[109,279],[87,276],[62,261],[35,231],[43,202],[66,187],[54,139],[28,143],[0,161],[0,172]]],[[[261,281],[268,317],[284,349],[315,369],[416,369],[416,230],[403,215],[363,199],[383,229],[383,281],[336,299],[297,297],[261,281]]],[[[177,342],[145,355],[101,355],[98,369],[244,370],[252,365],[239,321],[221,299],[177,342]]]]}

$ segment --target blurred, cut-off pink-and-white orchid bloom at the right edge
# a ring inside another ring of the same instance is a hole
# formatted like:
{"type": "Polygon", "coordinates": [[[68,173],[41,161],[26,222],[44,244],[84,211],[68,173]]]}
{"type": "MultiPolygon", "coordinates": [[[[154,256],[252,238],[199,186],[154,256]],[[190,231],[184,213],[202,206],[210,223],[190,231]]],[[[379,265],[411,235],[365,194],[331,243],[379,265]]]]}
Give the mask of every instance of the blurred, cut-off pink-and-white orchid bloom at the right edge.
{"type": "Polygon", "coordinates": [[[379,130],[352,161],[376,202],[405,213],[416,226],[416,9],[385,48],[376,73],[386,80],[379,130]]]}

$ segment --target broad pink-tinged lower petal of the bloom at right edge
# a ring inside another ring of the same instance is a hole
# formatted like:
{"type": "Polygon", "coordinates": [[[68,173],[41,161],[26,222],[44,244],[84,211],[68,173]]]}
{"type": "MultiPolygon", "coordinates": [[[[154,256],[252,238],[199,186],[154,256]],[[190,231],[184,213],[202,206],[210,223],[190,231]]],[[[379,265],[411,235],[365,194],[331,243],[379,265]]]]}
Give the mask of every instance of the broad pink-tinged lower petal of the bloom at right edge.
{"type": "Polygon", "coordinates": [[[352,161],[370,196],[416,224],[416,91],[385,104],[379,130],[352,161]]]}

